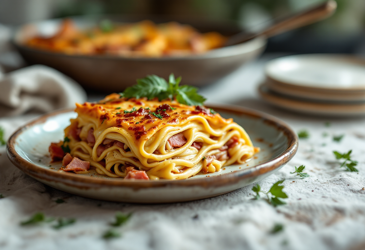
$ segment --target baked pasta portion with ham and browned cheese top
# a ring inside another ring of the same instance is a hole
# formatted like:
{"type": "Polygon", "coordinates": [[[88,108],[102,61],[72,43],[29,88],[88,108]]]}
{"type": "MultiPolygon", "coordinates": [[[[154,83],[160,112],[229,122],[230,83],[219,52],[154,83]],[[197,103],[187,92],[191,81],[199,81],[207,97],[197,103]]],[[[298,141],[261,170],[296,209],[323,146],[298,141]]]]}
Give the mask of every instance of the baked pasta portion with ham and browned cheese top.
{"type": "Polygon", "coordinates": [[[88,167],[81,163],[89,162],[109,177],[186,179],[244,163],[255,153],[241,126],[204,106],[119,94],[76,106],[78,117],[58,144],[70,151],[66,163],[79,161],[64,163],[66,171],[84,173],[88,167]]]}

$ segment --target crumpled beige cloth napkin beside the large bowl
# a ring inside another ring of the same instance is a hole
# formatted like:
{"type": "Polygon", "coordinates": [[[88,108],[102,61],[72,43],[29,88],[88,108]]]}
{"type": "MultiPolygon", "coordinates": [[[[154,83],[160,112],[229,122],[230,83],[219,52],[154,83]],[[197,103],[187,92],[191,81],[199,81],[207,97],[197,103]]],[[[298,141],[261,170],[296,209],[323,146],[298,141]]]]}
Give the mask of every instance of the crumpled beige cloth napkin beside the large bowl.
{"type": "Polygon", "coordinates": [[[0,117],[74,107],[86,98],[74,80],[44,65],[0,72],[0,117]]]}

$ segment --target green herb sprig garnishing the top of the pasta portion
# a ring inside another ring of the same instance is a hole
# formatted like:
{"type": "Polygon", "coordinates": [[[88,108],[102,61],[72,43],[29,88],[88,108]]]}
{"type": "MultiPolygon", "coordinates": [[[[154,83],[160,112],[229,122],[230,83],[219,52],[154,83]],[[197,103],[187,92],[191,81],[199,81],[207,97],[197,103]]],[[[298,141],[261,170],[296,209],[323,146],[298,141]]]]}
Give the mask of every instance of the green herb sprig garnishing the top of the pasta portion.
{"type": "Polygon", "coordinates": [[[149,75],[137,79],[137,84],[119,94],[126,98],[147,97],[149,100],[157,97],[159,101],[176,98],[176,101],[185,105],[203,105],[205,98],[197,93],[197,88],[189,85],[179,86],[180,82],[181,76],[175,79],[174,74],[170,74],[169,82],[162,77],[149,75]]]}

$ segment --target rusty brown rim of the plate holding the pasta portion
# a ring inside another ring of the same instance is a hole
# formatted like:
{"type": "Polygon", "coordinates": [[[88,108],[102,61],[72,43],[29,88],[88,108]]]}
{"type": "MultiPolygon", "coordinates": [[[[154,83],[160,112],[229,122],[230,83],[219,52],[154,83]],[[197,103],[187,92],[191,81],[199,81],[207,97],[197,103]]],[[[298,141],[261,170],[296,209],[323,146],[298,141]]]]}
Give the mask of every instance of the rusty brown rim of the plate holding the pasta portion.
{"type": "MultiPolygon", "coordinates": [[[[208,105],[207,105],[208,106],[208,105]]],[[[6,151],[10,161],[18,167],[21,171],[30,175],[36,179],[46,179],[47,181],[60,182],[66,185],[75,186],[78,188],[99,188],[99,187],[126,187],[134,190],[145,188],[161,188],[161,187],[186,187],[186,186],[200,186],[202,188],[220,187],[228,184],[233,184],[246,178],[259,178],[260,175],[265,175],[274,170],[284,166],[293,158],[297,152],[299,140],[296,133],[285,122],[279,120],[272,115],[263,113],[261,111],[244,108],[235,105],[209,105],[216,110],[226,111],[228,113],[237,113],[243,115],[249,115],[254,118],[259,118],[262,122],[275,126],[277,130],[281,130],[284,136],[288,139],[287,148],[281,152],[277,157],[269,160],[268,162],[260,163],[255,166],[245,168],[242,170],[233,171],[231,173],[211,176],[209,178],[197,178],[197,179],[182,179],[182,180],[158,180],[158,181],[144,181],[144,180],[123,180],[120,179],[106,179],[106,178],[93,178],[84,175],[76,175],[73,173],[61,173],[58,171],[41,168],[37,165],[28,162],[22,158],[15,150],[15,141],[25,130],[31,128],[36,124],[45,122],[47,118],[74,111],[73,109],[62,109],[53,111],[47,114],[43,114],[34,118],[26,125],[20,127],[14,132],[7,141],[6,151]]]]}

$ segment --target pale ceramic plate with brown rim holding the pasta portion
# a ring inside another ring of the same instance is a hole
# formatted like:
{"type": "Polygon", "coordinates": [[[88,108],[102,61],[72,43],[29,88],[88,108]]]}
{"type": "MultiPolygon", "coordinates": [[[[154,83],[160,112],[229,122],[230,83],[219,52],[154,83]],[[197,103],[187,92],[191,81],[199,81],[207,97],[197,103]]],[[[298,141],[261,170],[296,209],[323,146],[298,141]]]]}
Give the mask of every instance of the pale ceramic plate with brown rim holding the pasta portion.
{"type": "Polygon", "coordinates": [[[215,107],[223,117],[243,126],[261,151],[245,164],[195,175],[186,180],[124,180],[99,175],[66,173],[61,163],[50,163],[48,147],[62,140],[74,111],[44,115],[20,128],[7,144],[12,163],[24,173],[59,190],[108,201],[165,203],[199,200],[232,192],[257,182],[284,166],[296,153],[298,139],[286,124],[270,115],[240,107],[215,107]]]}

